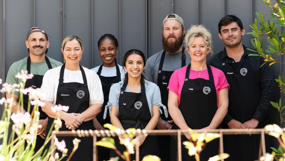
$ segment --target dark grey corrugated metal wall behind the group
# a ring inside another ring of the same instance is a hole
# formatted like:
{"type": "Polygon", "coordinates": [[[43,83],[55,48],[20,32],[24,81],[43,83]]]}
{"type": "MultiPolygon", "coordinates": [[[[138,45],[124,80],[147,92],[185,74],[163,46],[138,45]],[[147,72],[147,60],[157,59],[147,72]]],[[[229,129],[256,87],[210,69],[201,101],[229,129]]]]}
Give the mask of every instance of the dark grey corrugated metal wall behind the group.
{"type": "MultiPolygon", "coordinates": [[[[47,55],[61,62],[61,41],[68,35],[79,36],[85,48],[81,64],[93,68],[101,64],[97,41],[105,33],[118,38],[120,64],[129,49],[142,50],[146,57],[162,50],[162,20],[171,13],[183,18],[186,29],[192,24],[205,25],[213,35],[215,53],[224,49],[218,37],[218,23],[224,15],[240,17],[246,32],[251,32],[255,12],[270,17],[263,0],[1,0],[0,8],[3,79],[13,62],[29,55],[25,40],[33,26],[43,27],[52,36],[47,55]]],[[[243,44],[251,47],[250,39],[251,35],[243,36],[243,44]]],[[[284,66],[276,63],[272,69],[277,77],[284,66]]],[[[281,96],[278,86],[276,95],[276,99],[281,96]]]]}

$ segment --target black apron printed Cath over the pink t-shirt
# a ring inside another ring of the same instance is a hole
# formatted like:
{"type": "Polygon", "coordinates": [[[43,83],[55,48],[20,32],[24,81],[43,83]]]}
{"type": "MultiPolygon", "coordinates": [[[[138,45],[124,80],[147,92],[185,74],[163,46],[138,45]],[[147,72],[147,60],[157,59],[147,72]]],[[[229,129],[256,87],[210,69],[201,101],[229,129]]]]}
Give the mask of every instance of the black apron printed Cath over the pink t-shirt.
{"type": "MultiPolygon", "coordinates": [[[[179,109],[185,119],[186,124],[191,129],[202,129],[210,125],[216,111],[217,93],[211,67],[207,64],[209,80],[197,78],[189,79],[191,63],[187,66],[185,81],[181,91],[179,109]],[[206,111],[206,112],[205,112],[206,111]]],[[[217,128],[221,128],[219,125],[217,128]]],[[[172,123],[172,129],[179,127],[172,123]]],[[[182,134],[181,142],[188,141],[182,134]]],[[[188,149],[182,144],[182,160],[195,161],[194,156],[189,156],[188,149]]],[[[201,161],[207,161],[209,157],[219,154],[219,139],[207,143],[201,153],[201,161]]],[[[171,160],[177,158],[177,136],[171,137],[171,160]]]]}

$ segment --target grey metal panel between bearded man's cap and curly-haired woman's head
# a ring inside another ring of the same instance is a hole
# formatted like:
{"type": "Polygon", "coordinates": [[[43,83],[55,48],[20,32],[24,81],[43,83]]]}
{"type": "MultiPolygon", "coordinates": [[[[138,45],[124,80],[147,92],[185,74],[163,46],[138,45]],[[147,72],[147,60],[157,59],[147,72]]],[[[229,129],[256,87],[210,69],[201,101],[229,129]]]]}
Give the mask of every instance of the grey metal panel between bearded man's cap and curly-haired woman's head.
{"type": "Polygon", "coordinates": [[[176,14],[183,19],[186,31],[198,23],[197,5],[197,1],[176,0],[176,14]]]}

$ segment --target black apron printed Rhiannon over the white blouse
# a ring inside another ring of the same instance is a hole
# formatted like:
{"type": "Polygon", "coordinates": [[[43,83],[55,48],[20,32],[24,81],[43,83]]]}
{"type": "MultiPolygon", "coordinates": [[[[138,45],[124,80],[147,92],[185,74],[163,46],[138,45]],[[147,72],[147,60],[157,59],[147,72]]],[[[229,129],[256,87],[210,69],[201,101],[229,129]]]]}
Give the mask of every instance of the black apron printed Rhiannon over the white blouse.
{"type": "MultiPolygon", "coordinates": [[[[79,65],[80,66],[80,65],[79,65]]],[[[63,106],[69,106],[69,109],[67,113],[82,113],[86,109],[89,108],[89,99],[90,94],[88,90],[87,85],[87,79],[84,72],[84,69],[82,66],[80,66],[80,70],[83,77],[83,84],[78,82],[70,82],[70,83],[64,83],[63,76],[64,76],[64,69],[65,64],[61,66],[60,75],[59,75],[59,83],[58,83],[58,89],[56,94],[56,105],[61,104],[63,106]]],[[[47,122],[47,131],[50,129],[53,118],[48,117],[47,122]]],[[[62,121],[62,127],[59,129],[59,131],[71,131],[68,128],[66,128],[64,120],[62,121]]],[[[54,129],[54,128],[53,128],[54,129]]],[[[83,122],[81,125],[79,125],[76,130],[94,130],[93,120],[83,122]]],[[[66,143],[66,148],[68,149],[68,156],[72,152],[72,149],[74,147],[72,140],[75,137],[57,137],[58,141],[61,141],[64,139],[66,143]]],[[[78,149],[75,151],[75,153],[72,155],[71,160],[87,160],[92,161],[93,160],[93,138],[92,137],[78,137],[78,139],[81,140],[79,143],[78,149]]],[[[49,146],[47,146],[49,147],[49,146]]],[[[59,153],[59,156],[61,156],[61,152],[57,151],[59,153]]],[[[63,160],[66,160],[68,157],[64,157],[63,160]]]]}

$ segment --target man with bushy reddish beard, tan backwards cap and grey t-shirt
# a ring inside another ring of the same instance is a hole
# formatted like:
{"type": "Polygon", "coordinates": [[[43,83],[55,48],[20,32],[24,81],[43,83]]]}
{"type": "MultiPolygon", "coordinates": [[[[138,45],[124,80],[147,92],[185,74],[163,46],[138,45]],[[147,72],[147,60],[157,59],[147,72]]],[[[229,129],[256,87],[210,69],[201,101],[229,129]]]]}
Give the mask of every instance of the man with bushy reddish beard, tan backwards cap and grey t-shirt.
{"type": "MultiPolygon", "coordinates": [[[[176,14],[165,17],[162,23],[162,46],[163,50],[148,58],[145,65],[145,78],[159,86],[162,104],[167,108],[170,76],[172,73],[190,63],[190,55],[185,54],[183,39],[185,35],[184,22],[176,14]]],[[[167,108],[168,109],[168,108],[167,108]]],[[[160,115],[157,129],[171,129],[172,118],[163,113],[160,115]]],[[[170,160],[170,136],[157,136],[159,153],[162,161],[170,160]]]]}

